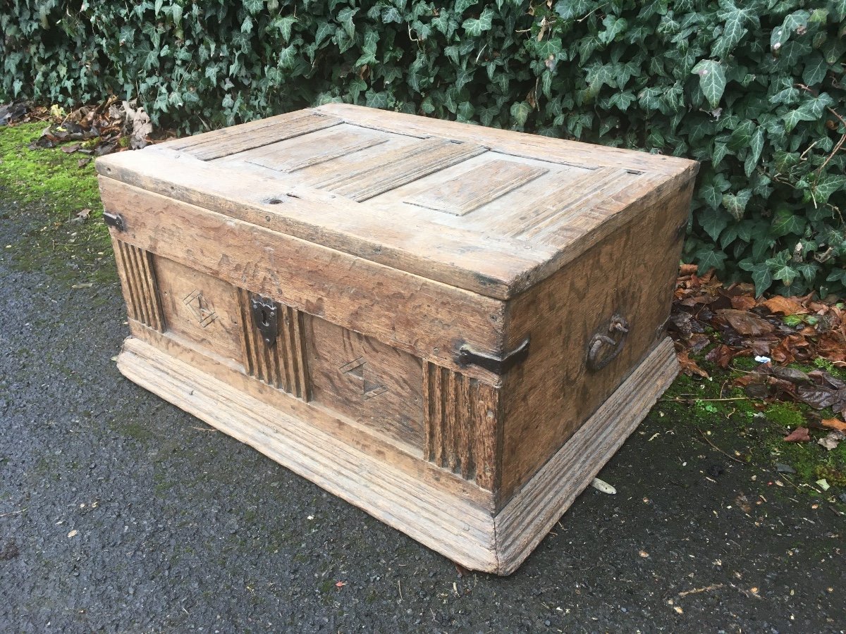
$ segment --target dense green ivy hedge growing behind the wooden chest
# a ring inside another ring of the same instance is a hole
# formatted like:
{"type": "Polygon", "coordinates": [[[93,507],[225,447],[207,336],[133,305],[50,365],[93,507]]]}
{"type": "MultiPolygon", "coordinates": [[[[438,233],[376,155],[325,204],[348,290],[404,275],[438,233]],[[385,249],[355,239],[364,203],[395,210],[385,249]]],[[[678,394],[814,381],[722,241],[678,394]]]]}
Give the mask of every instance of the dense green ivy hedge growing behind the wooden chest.
{"type": "Polygon", "coordinates": [[[182,132],[326,101],[702,161],[684,257],[846,291],[846,0],[0,0],[0,92],[182,132]]]}

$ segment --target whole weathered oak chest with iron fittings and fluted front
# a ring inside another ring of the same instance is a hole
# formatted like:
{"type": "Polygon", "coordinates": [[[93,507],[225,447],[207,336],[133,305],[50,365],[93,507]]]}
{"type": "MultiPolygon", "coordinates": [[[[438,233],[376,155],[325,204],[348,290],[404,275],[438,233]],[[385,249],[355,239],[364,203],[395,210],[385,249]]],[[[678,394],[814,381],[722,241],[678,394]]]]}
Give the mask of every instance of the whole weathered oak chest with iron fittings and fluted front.
{"type": "Polygon", "coordinates": [[[339,104],[102,158],[118,367],[509,574],[677,372],[696,167],[339,104]]]}

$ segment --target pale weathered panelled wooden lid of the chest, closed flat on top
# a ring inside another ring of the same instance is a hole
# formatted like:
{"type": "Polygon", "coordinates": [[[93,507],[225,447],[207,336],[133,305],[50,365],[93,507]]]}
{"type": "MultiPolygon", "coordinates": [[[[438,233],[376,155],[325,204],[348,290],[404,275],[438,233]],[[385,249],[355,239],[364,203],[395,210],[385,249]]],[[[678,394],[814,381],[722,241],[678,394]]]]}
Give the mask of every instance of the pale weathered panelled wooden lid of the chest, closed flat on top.
{"type": "Polygon", "coordinates": [[[103,177],[500,299],[683,187],[696,167],[343,104],[97,161],[103,177]]]}

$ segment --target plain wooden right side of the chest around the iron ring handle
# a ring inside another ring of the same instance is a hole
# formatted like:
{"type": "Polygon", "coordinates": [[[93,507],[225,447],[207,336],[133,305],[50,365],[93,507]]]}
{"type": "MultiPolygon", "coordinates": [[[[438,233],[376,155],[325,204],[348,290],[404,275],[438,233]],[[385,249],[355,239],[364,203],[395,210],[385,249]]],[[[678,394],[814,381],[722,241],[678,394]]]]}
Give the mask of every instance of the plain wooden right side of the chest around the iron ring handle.
{"type": "Polygon", "coordinates": [[[665,336],[691,190],[645,200],[632,221],[514,300],[508,340],[530,336],[531,349],[503,386],[503,503],[665,336]]]}

